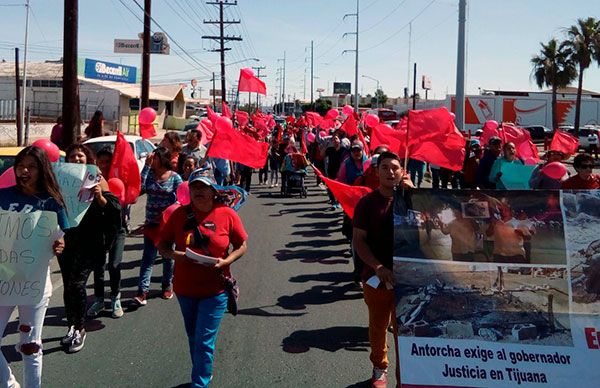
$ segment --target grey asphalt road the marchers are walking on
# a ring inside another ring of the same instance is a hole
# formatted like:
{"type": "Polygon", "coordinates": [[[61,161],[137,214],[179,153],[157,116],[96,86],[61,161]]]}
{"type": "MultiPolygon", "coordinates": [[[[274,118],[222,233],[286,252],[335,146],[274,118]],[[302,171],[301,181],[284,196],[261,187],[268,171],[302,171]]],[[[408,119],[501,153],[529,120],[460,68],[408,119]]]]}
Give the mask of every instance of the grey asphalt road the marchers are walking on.
{"type": "MultiPolygon", "coordinates": [[[[233,268],[241,310],[236,317],[227,314],[221,325],[213,387],[368,386],[367,311],[351,282],[349,247],[340,233],[342,213],[329,210],[314,179],[307,185],[309,196],[302,199],[280,198],[276,189],[254,186],[240,211],[250,236],[248,253],[233,268]]],[[[133,220],[141,222],[142,217],[140,201],[133,220]]],[[[55,290],[43,332],[45,387],[178,387],[190,382],[178,303],[159,297],[161,265],[155,265],[148,305],[129,307],[141,250],[141,238],[127,238],[125,315],[112,319],[106,312],[89,321],[85,348],[76,354],[66,354],[59,344],[66,323],[60,274],[53,263],[55,290]]],[[[21,380],[16,331],[13,320],[2,351],[21,380]]],[[[390,358],[395,365],[393,350],[390,358]]],[[[393,373],[390,380],[393,386],[393,373]]]]}

